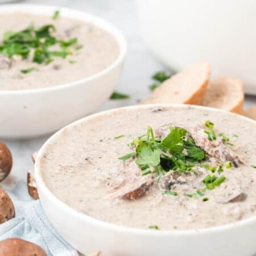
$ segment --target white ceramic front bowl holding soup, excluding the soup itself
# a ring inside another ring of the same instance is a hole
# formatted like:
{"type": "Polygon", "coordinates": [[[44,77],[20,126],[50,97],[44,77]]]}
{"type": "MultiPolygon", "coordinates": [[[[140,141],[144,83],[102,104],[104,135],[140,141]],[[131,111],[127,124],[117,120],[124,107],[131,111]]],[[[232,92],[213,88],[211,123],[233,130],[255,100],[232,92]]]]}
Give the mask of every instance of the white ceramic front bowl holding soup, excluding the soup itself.
{"type": "MultiPolygon", "coordinates": [[[[152,106],[131,106],[126,109],[151,108],[152,106]]],[[[187,105],[175,106],[187,108],[187,105]]],[[[221,110],[202,106],[193,106],[193,108],[221,112],[221,110]]],[[[90,115],[86,119],[115,111],[115,109],[108,110],[90,115]]],[[[230,115],[240,118],[241,122],[245,119],[254,122],[236,114],[230,113],[230,115]]],[[[79,125],[84,120],[85,118],[69,126],[79,125]]],[[[256,126],[256,122],[254,123],[256,126]]],[[[102,250],[103,256],[253,256],[256,253],[256,216],[214,228],[160,231],[117,226],[96,220],[72,209],[49,191],[42,179],[38,164],[43,158],[47,146],[55,142],[60,133],[61,130],[49,138],[39,151],[35,163],[36,184],[47,217],[65,240],[77,250],[86,255],[92,251],[102,250]]],[[[72,191],[70,192],[72,193],[72,191]]]]}

